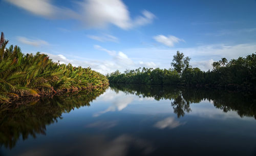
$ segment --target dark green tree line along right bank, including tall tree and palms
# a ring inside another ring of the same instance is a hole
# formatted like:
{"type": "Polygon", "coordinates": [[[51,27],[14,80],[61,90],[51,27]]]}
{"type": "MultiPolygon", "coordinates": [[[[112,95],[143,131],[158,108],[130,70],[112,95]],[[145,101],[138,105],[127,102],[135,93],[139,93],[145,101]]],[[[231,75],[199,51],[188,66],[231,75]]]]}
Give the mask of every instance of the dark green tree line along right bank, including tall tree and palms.
{"type": "Polygon", "coordinates": [[[212,63],[213,70],[201,71],[189,65],[190,58],[177,51],[170,69],[138,68],[108,74],[114,84],[157,84],[191,87],[223,87],[233,90],[256,90],[256,55],[229,62],[222,58],[212,63]]]}

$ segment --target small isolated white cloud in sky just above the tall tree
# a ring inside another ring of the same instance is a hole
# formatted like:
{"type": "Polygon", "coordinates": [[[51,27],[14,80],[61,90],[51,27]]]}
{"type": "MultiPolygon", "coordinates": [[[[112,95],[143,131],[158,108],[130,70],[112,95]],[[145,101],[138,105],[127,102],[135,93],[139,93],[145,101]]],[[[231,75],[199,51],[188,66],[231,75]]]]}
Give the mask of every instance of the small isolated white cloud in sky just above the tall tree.
{"type": "Polygon", "coordinates": [[[164,35],[157,35],[153,37],[157,42],[162,43],[166,46],[173,47],[175,43],[179,43],[180,41],[184,41],[179,39],[175,36],[164,36],[164,35]]]}

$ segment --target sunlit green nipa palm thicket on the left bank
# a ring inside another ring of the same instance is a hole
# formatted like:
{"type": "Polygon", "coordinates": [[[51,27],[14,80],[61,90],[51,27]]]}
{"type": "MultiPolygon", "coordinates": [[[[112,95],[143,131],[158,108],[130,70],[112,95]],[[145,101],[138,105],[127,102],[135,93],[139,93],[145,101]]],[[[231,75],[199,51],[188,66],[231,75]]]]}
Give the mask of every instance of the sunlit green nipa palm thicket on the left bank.
{"type": "Polygon", "coordinates": [[[1,34],[0,103],[24,96],[78,92],[109,85],[106,76],[91,68],[53,62],[45,54],[24,55],[17,45],[6,48],[1,34]]]}

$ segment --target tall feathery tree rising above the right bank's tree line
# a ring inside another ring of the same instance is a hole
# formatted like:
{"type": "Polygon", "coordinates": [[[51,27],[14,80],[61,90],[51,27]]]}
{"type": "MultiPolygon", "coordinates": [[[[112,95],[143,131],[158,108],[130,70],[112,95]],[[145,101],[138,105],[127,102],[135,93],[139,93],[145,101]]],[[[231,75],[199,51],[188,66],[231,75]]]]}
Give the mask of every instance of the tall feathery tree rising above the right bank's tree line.
{"type": "Polygon", "coordinates": [[[173,62],[170,63],[171,66],[174,67],[174,69],[181,74],[182,70],[188,68],[189,65],[189,61],[190,58],[189,57],[185,57],[184,58],[184,54],[181,53],[179,50],[177,51],[176,55],[174,55],[173,58],[173,62]]]}

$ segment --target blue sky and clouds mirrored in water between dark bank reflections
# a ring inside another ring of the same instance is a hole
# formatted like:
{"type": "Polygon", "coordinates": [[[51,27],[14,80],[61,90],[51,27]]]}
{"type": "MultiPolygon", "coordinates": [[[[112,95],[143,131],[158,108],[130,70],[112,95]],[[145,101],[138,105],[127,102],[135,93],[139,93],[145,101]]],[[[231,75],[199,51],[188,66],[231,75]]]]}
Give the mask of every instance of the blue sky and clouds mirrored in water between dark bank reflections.
{"type": "Polygon", "coordinates": [[[255,119],[223,113],[209,101],[192,103],[192,111],[180,118],[170,100],[110,89],[90,105],[62,114],[46,126],[46,136],[20,138],[13,150],[1,150],[6,155],[134,155],[130,149],[140,155],[248,155],[256,147],[255,119]]]}

